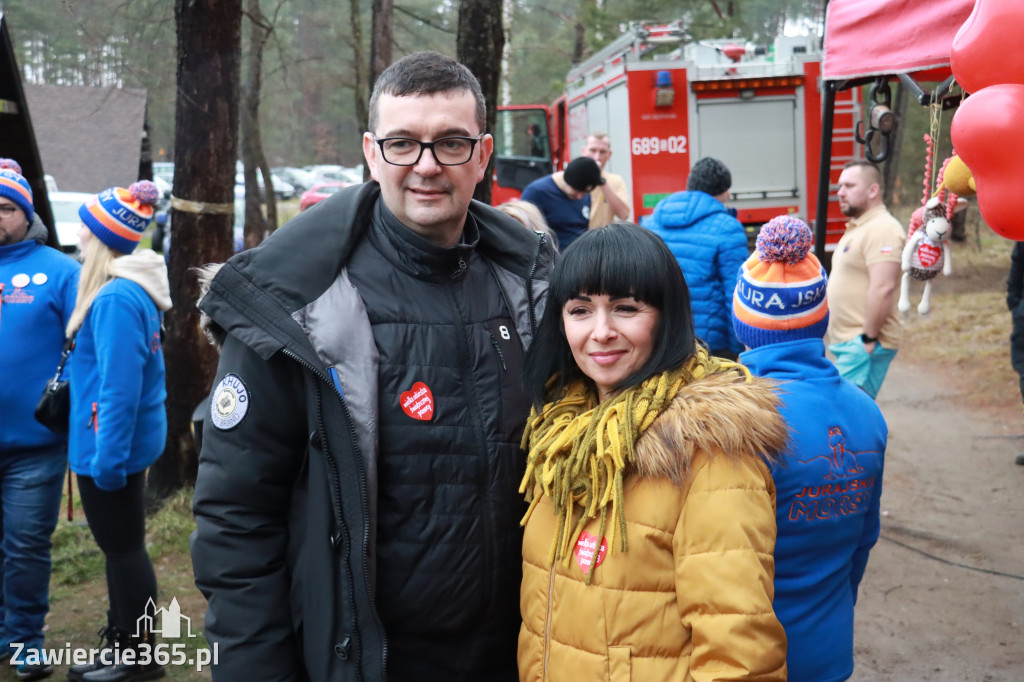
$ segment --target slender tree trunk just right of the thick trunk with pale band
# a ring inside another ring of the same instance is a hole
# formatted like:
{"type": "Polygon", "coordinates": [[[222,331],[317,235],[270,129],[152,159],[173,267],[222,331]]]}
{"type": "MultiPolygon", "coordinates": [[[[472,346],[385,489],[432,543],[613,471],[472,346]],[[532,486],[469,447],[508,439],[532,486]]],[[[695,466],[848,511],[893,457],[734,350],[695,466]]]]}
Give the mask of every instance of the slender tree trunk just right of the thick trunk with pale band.
{"type": "Polygon", "coordinates": [[[278,203],[273,195],[273,181],[266,167],[263,141],[259,129],[259,98],[263,82],[263,48],[273,27],[267,22],[259,6],[260,0],[246,0],[249,17],[249,54],[246,80],[242,85],[242,118],[240,119],[240,144],[242,146],[242,175],[246,184],[245,248],[259,245],[270,225],[278,225],[278,203]],[[257,172],[263,174],[264,193],[260,193],[257,172]],[[262,196],[262,195],[265,195],[262,196]],[[266,202],[266,218],[262,203],[266,202]]]}

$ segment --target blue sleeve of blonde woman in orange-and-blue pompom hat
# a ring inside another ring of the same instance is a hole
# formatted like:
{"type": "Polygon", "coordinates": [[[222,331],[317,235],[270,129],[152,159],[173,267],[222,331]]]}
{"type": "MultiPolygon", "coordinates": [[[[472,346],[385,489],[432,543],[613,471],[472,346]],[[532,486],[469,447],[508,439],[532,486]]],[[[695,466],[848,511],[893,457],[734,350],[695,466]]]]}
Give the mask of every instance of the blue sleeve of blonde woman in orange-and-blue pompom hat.
{"type": "Polygon", "coordinates": [[[103,491],[125,486],[125,465],[142,395],[142,372],[150,356],[145,312],[120,296],[97,296],[90,311],[96,339],[99,396],[96,403],[96,452],[89,475],[103,491]]]}

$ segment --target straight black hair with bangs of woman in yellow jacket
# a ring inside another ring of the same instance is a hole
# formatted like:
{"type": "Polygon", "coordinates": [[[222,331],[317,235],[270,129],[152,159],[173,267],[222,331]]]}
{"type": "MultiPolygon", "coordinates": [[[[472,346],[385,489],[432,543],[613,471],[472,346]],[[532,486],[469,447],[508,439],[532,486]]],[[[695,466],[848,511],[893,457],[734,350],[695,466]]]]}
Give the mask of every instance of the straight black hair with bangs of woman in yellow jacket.
{"type": "Polygon", "coordinates": [[[665,242],[632,222],[587,230],[555,264],[544,314],[526,354],[523,383],[538,408],[573,381],[587,379],[572,358],[562,326],[562,307],[580,294],[632,296],[660,313],[650,357],[616,388],[673,370],[696,353],[690,292],[665,242]]]}

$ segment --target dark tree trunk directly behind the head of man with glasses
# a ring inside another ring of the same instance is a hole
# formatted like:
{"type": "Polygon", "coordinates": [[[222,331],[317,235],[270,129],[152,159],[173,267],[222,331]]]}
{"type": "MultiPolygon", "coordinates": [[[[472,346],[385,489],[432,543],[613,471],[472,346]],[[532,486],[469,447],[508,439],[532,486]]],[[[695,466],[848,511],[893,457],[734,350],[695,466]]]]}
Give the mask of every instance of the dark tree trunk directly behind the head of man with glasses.
{"type": "MultiPolygon", "coordinates": [[[[505,31],[502,3],[490,0],[461,0],[459,3],[459,34],[456,54],[459,61],[476,75],[487,102],[485,131],[495,129],[498,120],[498,89],[501,87],[502,50],[505,31]]],[[[490,183],[495,173],[495,158],[490,157],[483,179],[476,185],[473,198],[490,203],[490,183]]]]}

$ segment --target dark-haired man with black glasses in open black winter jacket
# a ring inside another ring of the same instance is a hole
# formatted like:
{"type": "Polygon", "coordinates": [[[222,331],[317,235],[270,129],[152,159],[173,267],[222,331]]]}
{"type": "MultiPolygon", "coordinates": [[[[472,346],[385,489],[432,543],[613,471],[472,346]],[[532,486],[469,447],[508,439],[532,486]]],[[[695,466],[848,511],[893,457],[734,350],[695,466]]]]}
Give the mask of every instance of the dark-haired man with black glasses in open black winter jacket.
{"type": "Polygon", "coordinates": [[[229,260],[196,484],[215,680],[517,680],[545,237],[472,201],[479,84],[434,52],[377,81],[374,181],[229,260]]]}

